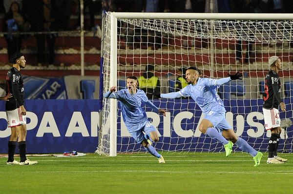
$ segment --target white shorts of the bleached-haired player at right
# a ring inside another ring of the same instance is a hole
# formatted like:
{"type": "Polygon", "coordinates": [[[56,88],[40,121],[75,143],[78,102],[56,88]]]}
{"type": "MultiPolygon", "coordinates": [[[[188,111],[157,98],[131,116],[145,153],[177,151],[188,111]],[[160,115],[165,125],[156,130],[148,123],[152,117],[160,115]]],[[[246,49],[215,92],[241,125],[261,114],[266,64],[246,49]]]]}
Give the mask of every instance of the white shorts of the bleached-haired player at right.
{"type": "Polygon", "coordinates": [[[265,128],[266,130],[271,130],[275,127],[280,127],[280,116],[279,116],[279,110],[276,108],[272,109],[264,109],[264,119],[265,119],[265,128]]]}

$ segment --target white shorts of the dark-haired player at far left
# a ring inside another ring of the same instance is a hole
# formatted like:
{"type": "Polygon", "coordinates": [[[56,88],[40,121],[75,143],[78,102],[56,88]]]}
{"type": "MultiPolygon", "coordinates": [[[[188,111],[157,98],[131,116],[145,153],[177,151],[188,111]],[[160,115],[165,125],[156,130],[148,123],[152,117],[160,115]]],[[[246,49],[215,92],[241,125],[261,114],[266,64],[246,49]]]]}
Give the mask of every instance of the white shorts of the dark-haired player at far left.
{"type": "Polygon", "coordinates": [[[20,108],[13,111],[6,111],[7,125],[8,127],[16,127],[26,124],[26,116],[21,115],[20,108]]]}

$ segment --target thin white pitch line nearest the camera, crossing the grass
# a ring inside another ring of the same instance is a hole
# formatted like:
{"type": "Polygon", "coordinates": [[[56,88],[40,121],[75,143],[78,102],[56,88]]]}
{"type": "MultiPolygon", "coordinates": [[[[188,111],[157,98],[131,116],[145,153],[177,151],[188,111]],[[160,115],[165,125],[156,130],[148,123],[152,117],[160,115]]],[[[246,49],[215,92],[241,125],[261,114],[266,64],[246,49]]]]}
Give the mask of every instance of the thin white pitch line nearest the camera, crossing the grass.
{"type": "MultiPolygon", "coordinates": [[[[7,173],[5,171],[5,173],[7,173]]],[[[267,175],[267,174],[278,174],[278,175],[293,175],[293,172],[288,171],[277,171],[277,172],[227,172],[227,171],[28,171],[25,173],[211,173],[211,174],[258,174],[258,175],[267,175]]]]}

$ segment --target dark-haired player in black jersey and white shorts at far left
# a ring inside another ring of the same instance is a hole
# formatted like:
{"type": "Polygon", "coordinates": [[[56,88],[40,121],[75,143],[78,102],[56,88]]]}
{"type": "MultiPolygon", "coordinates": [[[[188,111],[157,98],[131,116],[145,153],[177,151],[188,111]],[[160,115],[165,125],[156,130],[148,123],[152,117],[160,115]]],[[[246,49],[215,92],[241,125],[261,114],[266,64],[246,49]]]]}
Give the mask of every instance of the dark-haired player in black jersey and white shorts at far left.
{"type": "Polygon", "coordinates": [[[7,125],[11,128],[11,136],[8,141],[8,160],[6,164],[31,165],[37,164],[37,161],[31,161],[26,158],[26,110],[23,106],[23,79],[20,73],[21,68],[25,67],[25,59],[21,53],[15,53],[11,56],[13,67],[6,76],[6,94],[11,93],[12,97],[6,101],[5,109],[7,116],[7,125]],[[14,160],[16,141],[20,151],[21,161],[14,160]]]}

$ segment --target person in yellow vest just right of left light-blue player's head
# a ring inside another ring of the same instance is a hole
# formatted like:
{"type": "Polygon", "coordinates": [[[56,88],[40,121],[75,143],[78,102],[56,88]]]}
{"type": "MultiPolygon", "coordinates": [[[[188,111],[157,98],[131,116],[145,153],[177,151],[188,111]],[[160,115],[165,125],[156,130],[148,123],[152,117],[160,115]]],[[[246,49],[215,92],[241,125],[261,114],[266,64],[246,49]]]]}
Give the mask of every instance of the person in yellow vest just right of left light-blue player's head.
{"type": "Polygon", "coordinates": [[[138,78],[139,89],[143,90],[146,93],[146,97],[151,99],[153,98],[154,91],[158,93],[160,90],[160,80],[155,76],[155,66],[153,64],[146,65],[146,71],[143,76],[138,78]]]}

